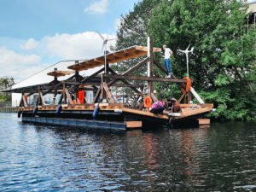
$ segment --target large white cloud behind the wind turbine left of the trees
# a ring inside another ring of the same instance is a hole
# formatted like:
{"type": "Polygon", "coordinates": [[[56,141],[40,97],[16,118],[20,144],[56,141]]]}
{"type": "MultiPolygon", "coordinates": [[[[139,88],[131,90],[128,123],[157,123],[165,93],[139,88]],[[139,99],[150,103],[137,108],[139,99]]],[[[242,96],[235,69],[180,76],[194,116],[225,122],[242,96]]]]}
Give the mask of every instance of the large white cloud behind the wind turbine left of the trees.
{"type": "MultiPolygon", "coordinates": [[[[102,34],[104,38],[116,38],[112,35],[102,34]]],[[[64,59],[90,59],[102,55],[102,38],[96,32],[82,32],[77,34],[55,34],[54,37],[45,37],[44,43],[51,54],[64,59]]],[[[108,42],[114,45],[115,41],[108,42]]]]}

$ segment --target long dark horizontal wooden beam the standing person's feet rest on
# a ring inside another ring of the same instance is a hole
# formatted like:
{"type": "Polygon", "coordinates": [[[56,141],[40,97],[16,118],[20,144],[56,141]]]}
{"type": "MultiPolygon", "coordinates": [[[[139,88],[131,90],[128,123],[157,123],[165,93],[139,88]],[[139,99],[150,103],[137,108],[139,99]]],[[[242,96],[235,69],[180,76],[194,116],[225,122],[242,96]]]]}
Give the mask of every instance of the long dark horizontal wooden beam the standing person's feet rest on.
{"type": "Polygon", "coordinates": [[[131,75],[113,75],[113,74],[104,74],[105,78],[110,79],[130,79],[130,80],[143,80],[143,81],[159,81],[159,82],[171,82],[171,83],[187,83],[186,79],[167,79],[167,78],[150,78],[150,77],[139,77],[131,75]]]}

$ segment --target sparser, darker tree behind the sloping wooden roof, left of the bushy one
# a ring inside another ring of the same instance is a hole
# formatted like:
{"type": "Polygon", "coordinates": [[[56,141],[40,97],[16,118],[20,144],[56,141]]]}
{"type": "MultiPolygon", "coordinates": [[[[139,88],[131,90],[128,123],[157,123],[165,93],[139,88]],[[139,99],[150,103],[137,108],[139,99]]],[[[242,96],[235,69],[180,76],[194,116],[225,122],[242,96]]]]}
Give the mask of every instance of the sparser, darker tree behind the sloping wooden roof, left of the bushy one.
{"type": "MultiPolygon", "coordinates": [[[[117,31],[117,43],[113,50],[120,50],[131,47],[133,45],[147,46],[148,24],[150,22],[151,13],[154,5],[160,0],[144,0],[134,4],[134,10],[127,15],[122,15],[119,28],[117,31]]],[[[115,71],[124,73],[126,70],[134,66],[138,61],[142,61],[142,57],[121,61],[118,65],[112,66],[115,71]]],[[[146,75],[147,67],[140,67],[134,72],[136,75],[146,75]]],[[[131,83],[141,84],[140,81],[131,81],[131,83]]],[[[130,89],[123,89],[125,93],[129,93],[130,89]]]]}

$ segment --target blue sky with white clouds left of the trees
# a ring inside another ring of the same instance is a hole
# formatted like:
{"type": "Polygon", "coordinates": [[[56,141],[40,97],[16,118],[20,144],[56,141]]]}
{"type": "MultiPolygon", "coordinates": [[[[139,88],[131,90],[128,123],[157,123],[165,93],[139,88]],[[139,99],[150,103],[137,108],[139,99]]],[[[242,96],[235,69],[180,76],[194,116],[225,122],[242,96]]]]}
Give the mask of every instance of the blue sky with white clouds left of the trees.
{"type": "Polygon", "coordinates": [[[139,1],[0,0],[0,78],[20,82],[58,61],[102,55],[96,32],[115,38],[139,1]]]}

